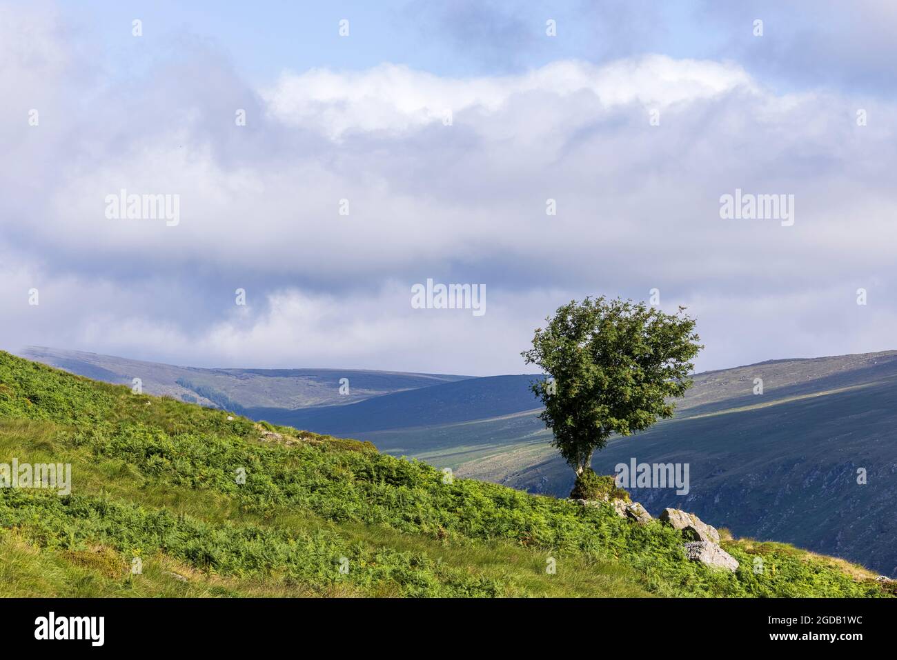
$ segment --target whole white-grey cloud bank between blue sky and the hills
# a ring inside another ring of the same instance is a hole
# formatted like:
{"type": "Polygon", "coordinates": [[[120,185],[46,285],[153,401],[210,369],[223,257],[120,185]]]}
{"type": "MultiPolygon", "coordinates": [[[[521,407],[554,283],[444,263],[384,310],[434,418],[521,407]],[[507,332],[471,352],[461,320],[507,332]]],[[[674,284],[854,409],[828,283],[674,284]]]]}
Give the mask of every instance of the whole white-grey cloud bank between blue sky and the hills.
{"type": "Polygon", "coordinates": [[[73,74],[91,62],[52,15],[4,18],[33,39],[4,42],[0,88],[48,117],[30,127],[0,108],[6,348],[519,372],[553,308],[653,287],[665,307],[692,304],[703,368],[891,347],[885,101],[780,94],[736,64],[666,56],[469,79],[312,70],[256,90],[208,55],[125,98],[73,74]],[[795,226],[720,220],[736,187],[796,195],[795,226]],[[105,196],[121,188],[180,195],[179,226],[109,221],[105,196]],[[412,310],[427,277],[484,283],[486,316],[412,310]],[[859,286],[868,308],[849,304],[859,286]]]}

